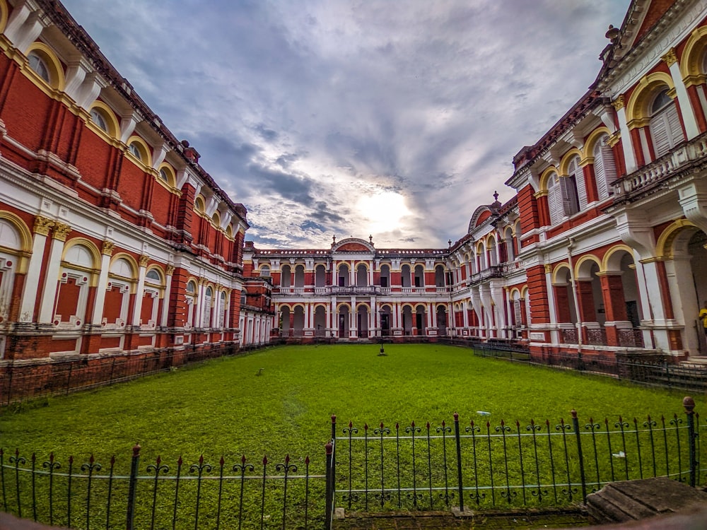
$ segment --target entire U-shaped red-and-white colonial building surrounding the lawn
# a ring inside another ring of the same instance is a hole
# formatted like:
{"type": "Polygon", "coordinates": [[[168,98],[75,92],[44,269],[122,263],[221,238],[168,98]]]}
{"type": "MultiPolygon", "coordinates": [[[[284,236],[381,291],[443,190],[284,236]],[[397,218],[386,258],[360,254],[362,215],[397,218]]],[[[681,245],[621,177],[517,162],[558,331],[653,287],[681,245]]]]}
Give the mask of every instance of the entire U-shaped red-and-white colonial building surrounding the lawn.
{"type": "Polygon", "coordinates": [[[0,30],[0,370],[273,337],[707,353],[707,0],[633,0],[588,92],[489,176],[513,199],[440,249],[256,248],[59,2],[0,0],[0,30]]]}

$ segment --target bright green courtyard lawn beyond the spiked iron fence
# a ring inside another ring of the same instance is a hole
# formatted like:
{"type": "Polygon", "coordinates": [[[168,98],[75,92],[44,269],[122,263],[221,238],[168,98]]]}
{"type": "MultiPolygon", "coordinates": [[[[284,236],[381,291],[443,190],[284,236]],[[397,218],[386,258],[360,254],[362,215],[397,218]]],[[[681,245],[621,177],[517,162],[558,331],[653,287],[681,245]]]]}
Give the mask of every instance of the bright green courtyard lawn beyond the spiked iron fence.
{"type": "MultiPolygon", "coordinates": [[[[339,429],[349,420],[358,427],[443,419],[450,425],[455,411],[463,425],[487,419],[498,425],[502,418],[522,425],[548,418],[554,425],[569,421],[572,408],[581,425],[590,416],[612,423],[619,415],[641,422],[648,414],[684,417],[680,392],[479,358],[464,348],[390,344],[385,351],[378,356],[377,345],[269,348],[8,408],[0,417],[0,447],[63,458],[93,453],[105,462],[112,454],[127,457],[139,442],[144,459],[289,453],[319,461],[332,414],[339,429]]],[[[703,411],[703,396],[694,397],[703,411]]]]}

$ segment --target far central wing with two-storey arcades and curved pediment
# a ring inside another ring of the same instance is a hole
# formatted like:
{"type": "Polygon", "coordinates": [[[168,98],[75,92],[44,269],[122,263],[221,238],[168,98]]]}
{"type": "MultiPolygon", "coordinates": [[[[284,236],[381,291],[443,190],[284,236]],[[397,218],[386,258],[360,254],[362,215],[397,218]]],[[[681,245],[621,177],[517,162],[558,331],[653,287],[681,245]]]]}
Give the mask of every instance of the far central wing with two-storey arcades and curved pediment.
{"type": "Polygon", "coordinates": [[[376,249],[373,238],[330,249],[258,250],[247,242],[245,273],[271,278],[284,338],[356,341],[447,334],[451,311],[446,249],[376,249]]]}

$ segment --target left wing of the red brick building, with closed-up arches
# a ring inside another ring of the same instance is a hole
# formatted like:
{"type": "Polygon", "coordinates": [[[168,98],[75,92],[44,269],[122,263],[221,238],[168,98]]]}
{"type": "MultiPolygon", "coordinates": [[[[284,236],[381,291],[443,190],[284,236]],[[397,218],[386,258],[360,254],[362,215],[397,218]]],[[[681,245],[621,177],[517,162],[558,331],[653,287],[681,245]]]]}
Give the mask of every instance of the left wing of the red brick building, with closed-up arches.
{"type": "Polygon", "coordinates": [[[0,30],[0,375],[238,348],[245,207],[61,4],[0,30]]]}

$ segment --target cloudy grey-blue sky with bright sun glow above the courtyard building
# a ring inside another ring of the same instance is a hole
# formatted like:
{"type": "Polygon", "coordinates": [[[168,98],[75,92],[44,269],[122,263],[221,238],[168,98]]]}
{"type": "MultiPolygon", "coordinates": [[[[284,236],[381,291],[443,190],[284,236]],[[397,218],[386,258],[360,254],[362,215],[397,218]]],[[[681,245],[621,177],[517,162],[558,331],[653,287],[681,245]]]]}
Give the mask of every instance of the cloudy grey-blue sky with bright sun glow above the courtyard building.
{"type": "Polygon", "coordinates": [[[447,247],[595,80],[629,0],[63,0],[257,247],[447,247]]]}

